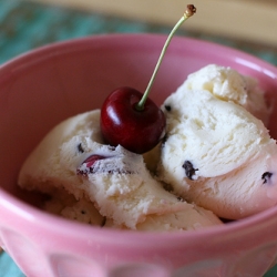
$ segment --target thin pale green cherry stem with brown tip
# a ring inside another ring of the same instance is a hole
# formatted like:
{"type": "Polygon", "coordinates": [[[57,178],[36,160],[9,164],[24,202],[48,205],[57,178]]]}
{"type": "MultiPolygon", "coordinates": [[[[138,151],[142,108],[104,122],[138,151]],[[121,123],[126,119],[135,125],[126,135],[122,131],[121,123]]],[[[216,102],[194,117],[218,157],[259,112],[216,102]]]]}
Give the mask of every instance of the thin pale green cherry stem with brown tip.
{"type": "Polygon", "coordinates": [[[174,25],[174,28],[172,29],[171,33],[168,34],[168,37],[167,37],[167,39],[166,39],[166,41],[165,41],[165,43],[164,43],[164,47],[163,47],[162,52],[161,52],[161,54],[160,54],[160,58],[158,58],[158,60],[157,60],[156,66],[155,66],[155,69],[154,69],[154,72],[153,72],[153,74],[152,74],[152,76],[151,76],[151,80],[150,80],[150,82],[148,82],[148,85],[147,85],[147,88],[146,88],[146,90],[145,90],[145,92],[144,92],[142,99],[141,99],[141,101],[136,104],[136,110],[142,111],[142,110],[144,109],[144,104],[145,104],[146,99],[147,99],[147,96],[148,96],[148,94],[150,94],[150,91],[151,91],[151,88],[152,88],[153,82],[154,82],[154,80],[155,80],[156,73],[157,73],[157,71],[158,71],[158,69],[160,69],[160,65],[161,65],[161,63],[162,63],[162,60],[163,60],[163,58],[164,58],[164,54],[165,54],[165,52],[166,52],[166,50],[167,50],[167,48],[168,48],[168,45],[170,45],[170,42],[171,42],[173,35],[175,34],[175,32],[177,31],[177,29],[178,29],[188,18],[191,18],[195,12],[196,12],[196,8],[195,8],[193,4],[188,4],[188,6],[186,7],[186,11],[184,12],[183,17],[178,20],[178,22],[177,22],[177,23],[174,25]]]}

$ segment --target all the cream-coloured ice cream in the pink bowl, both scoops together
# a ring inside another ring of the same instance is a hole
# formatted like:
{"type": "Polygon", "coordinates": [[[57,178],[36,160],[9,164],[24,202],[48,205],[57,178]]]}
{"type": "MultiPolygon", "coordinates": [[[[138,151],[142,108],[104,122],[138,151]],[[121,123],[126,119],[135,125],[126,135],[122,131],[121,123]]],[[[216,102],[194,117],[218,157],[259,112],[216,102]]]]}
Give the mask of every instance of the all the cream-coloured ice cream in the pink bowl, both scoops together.
{"type": "Polygon", "coordinates": [[[51,213],[114,228],[197,229],[256,214],[277,204],[264,94],[255,79],[207,65],[165,100],[166,135],[151,152],[105,145],[100,111],[86,112],[43,138],[19,185],[51,195],[51,213]]]}

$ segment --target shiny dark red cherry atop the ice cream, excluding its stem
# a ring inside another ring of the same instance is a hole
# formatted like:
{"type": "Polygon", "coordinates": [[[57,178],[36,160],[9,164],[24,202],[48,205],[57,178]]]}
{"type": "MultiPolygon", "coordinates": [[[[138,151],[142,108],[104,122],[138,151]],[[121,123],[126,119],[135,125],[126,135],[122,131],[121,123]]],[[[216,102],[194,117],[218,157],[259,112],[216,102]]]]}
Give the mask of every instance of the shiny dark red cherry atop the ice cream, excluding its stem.
{"type": "Polygon", "coordinates": [[[113,91],[101,109],[101,131],[105,142],[137,154],[152,150],[163,138],[165,116],[150,99],[136,107],[143,94],[132,88],[113,91]]]}

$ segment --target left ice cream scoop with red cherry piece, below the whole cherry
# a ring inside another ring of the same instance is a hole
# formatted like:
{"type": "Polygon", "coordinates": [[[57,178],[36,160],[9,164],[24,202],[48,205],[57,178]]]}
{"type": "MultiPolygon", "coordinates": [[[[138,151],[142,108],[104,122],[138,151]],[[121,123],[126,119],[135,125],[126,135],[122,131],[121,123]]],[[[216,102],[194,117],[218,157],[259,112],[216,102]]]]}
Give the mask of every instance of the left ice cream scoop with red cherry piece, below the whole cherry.
{"type": "Polygon", "coordinates": [[[142,155],[105,145],[99,122],[96,110],[55,126],[23,164],[19,185],[52,195],[47,204],[51,212],[96,225],[183,230],[222,224],[212,212],[165,191],[142,155]],[[90,166],[84,161],[93,155],[103,158],[90,166]],[[65,201],[58,205],[61,198],[65,201]]]}

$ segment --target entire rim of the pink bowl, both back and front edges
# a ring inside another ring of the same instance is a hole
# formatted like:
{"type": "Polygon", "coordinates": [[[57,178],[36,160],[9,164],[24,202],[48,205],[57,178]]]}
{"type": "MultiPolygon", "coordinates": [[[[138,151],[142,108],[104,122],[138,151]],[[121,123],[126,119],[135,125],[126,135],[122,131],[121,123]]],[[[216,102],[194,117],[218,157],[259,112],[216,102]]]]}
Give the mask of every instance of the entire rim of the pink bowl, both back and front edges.
{"type": "MultiPolygon", "coordinates": [[[[49,53],[52,50],[62,50],[61,52],[65,53],[66,51],[70,52],[73,49],[75,50],[78,45],[83,45],[84,42],[92,42],[92,41],[104,41],[104,40],[113,40],[113,41],[125,41],[126,39],[132,41],[134,38],[138,38],[142,40],[157,40],[161,41],[161,45],[163,44],[164,40],[167,38],[165,34],[148,34],[148,33],[121,33],[121,34],[99,34],[99,35],[91,35],[85,38],[78,38],[78,39],[70,39],[60,42],[53,42],[40,47],[38,49],[33,49],[27,51],[0,65],[0,71],[9,71],[12,68],[22,65],[30,57],[37,55],[43,59],[43,55],[49,53]]],[[[237,63],[243,65],[258,66],[263,73],[269,75],[271,79],[277,80],[277,68],[259,58],[256,58],[249,53],[243,52],[237,49],[233,49],[230,47],[222,45],[215,42],[194,39],[194,38],[186,38],[176,35],[175,40],[185,40],[186,42],[193,44],[201,44],[205,50],[208,49],[211,51],[220,51],[224,52],[226,55],[226,51],[229,57],[239,57],[237,63]],[[224,50],[224,51],[223,51],[224,50]]],[[[90,48],[90,43],[88,45],[90,48]]],[[[230,60],[233,58],[229,58],[230,60]]],[[[156,236],[156,232],[138,232],[138,230],[119,230],[119,229],[111,229],[111,228],[101,228],[96,226],[90,226],[86,224],[76,223],[73,220],[64,219],[55,215],[51,215],[44,213],[31,205],[24,203],[23,201],[17,198],[16,196],[11,195],[10,193],[6,192],[0,187],[0,207],[1,211],[7,211],[10,215],[14,214],[19,216],[21,219],[29,222],[32,226],[40,226],[40,228],[48,229],[51,233],[59,233],[64,234],[66,230],[66,235],[75,236],[75,234],[82,234],[84,237],[90,236],[98,236],[99,238],[106,239],[106,237],[112,237],[112,240],[116,240],[116,238],[124,237],[126,240],[134,242],[138,236],[143,236],[145,242],[156,242],[161,240],[161,237],[164,240],[168,242],[176,242],[176,244],[182,238],[191,238],[194,237],[212,237],[216,235],[230,235],[244,228],[257,228],[257,224],[265,223],[270,220],[277,215],[277,206],[260,212],[259,214],[249,216],[242,220],[237,220],[234,223],[228,223],[223,226],[212,226],[208,228],[199,229],[199,230],[186,230],[186,232],[168,232],[168,233],[158,233],[156,236]],[[51,225],[49,225],[51,223],[51,225]]],[[[0,211],[0,214],[3,213],[0,211]]]]}

